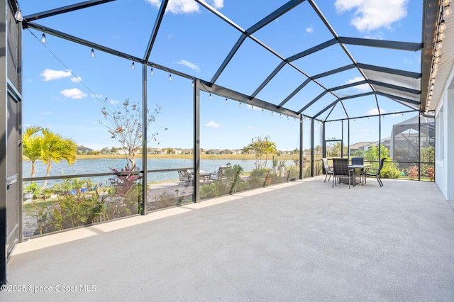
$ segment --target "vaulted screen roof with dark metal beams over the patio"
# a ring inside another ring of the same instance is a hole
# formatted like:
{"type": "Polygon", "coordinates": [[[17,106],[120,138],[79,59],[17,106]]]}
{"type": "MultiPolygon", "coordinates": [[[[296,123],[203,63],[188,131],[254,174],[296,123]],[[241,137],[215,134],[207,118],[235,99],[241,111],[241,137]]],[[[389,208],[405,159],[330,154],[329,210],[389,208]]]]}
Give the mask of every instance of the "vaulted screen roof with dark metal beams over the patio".
{"type": "Polygon", "coordinates": [[[365,104],[379,114],[383,98],[394,112],[421,107],[420,1],[409,1],[411,18],[389,39],[368,38],[335,1],[186,1],[192,13],[172,1],[18,2],[24,28],[200,79],[201,90],[289,116],[355,118],[365,104]],[[203,62],[191,68],[201,53],[203,62]]]}

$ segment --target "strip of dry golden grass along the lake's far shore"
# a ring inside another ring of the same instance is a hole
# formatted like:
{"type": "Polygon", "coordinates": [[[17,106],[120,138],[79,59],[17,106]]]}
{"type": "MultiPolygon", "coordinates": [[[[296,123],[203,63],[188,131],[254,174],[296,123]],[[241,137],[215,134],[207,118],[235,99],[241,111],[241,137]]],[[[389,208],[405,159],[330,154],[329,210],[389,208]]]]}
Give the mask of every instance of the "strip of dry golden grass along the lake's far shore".
{"type": "MultiPolygon", "coordinates": [[[[192,154],[149,154],[147,155],[148,159],[158,158],[158,159],[188,159],[191,160],[194,156],[192,154]]],[[[123,154],[114,155],[114,154],[98,154],[98,155],[76,155],[76,160],[101,160],[101,159],[125,159],[126,156],[123,154]]],[[[255,155],[253,154],[201,154],[201,160],[255,160],[255,155]]],[[[293,160],[294,155],[279,155],[276,156],[278,160],[293,160]]],[[[135,157],[136,160],[142,159],[142,155],[139,154],[135,157]]],[[[26,156],[23,157],[23,160],[28,160],[26,156]]],[[[272,156],[268,157],[268,160],[272,160],[272,156]]]]}

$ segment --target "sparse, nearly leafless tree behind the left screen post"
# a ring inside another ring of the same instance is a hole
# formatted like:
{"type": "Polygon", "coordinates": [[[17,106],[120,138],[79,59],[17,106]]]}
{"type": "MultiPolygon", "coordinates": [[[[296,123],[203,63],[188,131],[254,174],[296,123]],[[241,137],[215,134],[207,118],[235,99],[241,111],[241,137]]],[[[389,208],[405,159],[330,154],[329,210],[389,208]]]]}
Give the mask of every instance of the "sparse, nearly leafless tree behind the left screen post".
{"type": "MultiPolygon", "coordinates": [[[[107,98],[104,99],[107,102],[107,98]]],[[[156,105],[154,111],[147,108],[146,110],[146,127],[150,129],[150,125],[155,121],[157,114],[161,111],[161,107],[156,105]]],[[[135,166],[135,156],[138,150],[142,148],[143,144],[143,108],[139,104],[129,101],[123,102],[123,104],[116,106],[113,110],[110,110],[106,106],[101,108],[101,113],[104,116],[104,122],[99,121],[102,125],[106,126],[109,133],[112,135],[111,138],[115,138],[126,150],[126,159],[131,162],[131,166],[135,166]]],[[[162,127],[161,127],[162,128],[162,127]]],[[[148,142],[156,139],[157,129],[155,132],[150,132],[148,135],[148,142]]],[[[167,130],[167,128],[164,128],[167,130]]],[[[159,142],[157,143],[159,144],[159,142]]]]}

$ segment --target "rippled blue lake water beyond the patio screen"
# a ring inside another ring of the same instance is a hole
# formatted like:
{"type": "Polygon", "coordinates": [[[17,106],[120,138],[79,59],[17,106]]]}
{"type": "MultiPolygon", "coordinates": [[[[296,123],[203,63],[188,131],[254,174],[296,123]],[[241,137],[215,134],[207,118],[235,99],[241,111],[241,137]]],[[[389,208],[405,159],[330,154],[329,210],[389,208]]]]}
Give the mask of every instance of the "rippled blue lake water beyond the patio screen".
{"type": "MultiPolygon", "coordinates": [[[[200,160],[200,169],[204,172],[217,172],[218,167],[223,166],[227,163],[232,166],[239,164],[243,167],[245,172],[250,172],[255,169],[255,160],[200,160]]],[[[68,166],[66,160],[62,160],[59,163],[52,162],[52,168],[50,170],[51,176],[60,175],[74,175],[74,174],[90,174],[90,173],[111,173],[114,168],[121,170],[126,166],[127,161],[125,159],[96,159],[96,160],[77,160],[71,166],[68,166]]],[[[142,159],[135,160],[135,164],[138,167],[142,166],[142,159]]],[[[184,167],[193,167],[193,161],[187,159],[148,159],[147,161],[148,170],[158,169],[177,169],[184,167]]],[[[268,162],[268,165],[271,161],[268,162]]],[[[35,163],[35,177],[45,177],[47,166],[43,162],[35,163]]],[[[31,162],[28,160],[23,161],[23,177],[31,177],[31,162]]],[[[109,177],[89,177],[94,182],[106,182],[109,177]]],[[[170,179],[178,179],[177,171],[171,172],[156,172],[148,174],[148,181],[165,181],[170,179]]],[[[48,181],[51,186],[55,181],[48,181]]],[[[49,187],[48,186],[48,187],[49,187]]]]}

